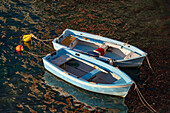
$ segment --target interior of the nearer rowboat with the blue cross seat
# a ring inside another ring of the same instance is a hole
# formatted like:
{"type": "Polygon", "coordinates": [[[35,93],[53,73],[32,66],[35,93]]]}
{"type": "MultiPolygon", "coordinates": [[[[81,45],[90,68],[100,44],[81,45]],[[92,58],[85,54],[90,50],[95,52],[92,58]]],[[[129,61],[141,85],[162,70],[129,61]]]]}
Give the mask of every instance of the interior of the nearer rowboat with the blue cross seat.
{"type": "Polygon", "coordinates": [[[97,66],[84,62],[83,60],[70,57],[68,54],[61,54],[59,56],[50,55],[47,59],[68,75],[91,83],[112,84],[120,79],[120,77],[114,73],[104,72],[100,68],[96,68],[97,66]]]}

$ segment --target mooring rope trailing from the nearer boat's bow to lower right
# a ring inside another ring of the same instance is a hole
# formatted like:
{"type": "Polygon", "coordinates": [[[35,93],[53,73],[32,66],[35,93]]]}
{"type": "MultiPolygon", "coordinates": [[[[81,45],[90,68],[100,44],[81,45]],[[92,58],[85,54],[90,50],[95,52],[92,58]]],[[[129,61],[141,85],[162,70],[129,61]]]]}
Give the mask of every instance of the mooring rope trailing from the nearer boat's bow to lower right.
{"type": "Polygon", "coordinates": [[[151,112],[157,112],[151,105],[149,105],[149,103],[145,100],[145,98],[143,97],[142,93],[140,92],[139,88],[137,87],[137,84],[134,82],[135,84],[135,90],[139,96],[139,99],[141,100],[142,104],[147,107],[151,112]]]}

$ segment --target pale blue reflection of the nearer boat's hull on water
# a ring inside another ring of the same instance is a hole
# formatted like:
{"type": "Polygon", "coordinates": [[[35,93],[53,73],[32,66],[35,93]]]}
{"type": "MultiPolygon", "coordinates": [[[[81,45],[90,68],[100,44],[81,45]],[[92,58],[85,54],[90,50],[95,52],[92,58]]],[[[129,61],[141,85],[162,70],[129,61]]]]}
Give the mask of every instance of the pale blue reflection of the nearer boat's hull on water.
{"type": "Polygon", "coordinates": [[[58,91],[60,95],[73,96],[75,101],[80,101],[92,107],[102,107],[109,109],[114,113],[127,112],[128,108],[124,104],[124,98],[114,97],[109,95],[102,95],[89,92],[78,87],[75,87],[48,71],[45,71],[44,80],[54,90],[58,91]]]}

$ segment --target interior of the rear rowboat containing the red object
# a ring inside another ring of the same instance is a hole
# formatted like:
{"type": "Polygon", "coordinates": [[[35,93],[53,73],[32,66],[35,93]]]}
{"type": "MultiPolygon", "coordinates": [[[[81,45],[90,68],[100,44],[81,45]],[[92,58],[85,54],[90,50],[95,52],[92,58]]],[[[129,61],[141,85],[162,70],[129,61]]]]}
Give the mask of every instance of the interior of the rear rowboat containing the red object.
{"type": "Polygon", "coordinates": [[[103,42],[98,43],[94,39],[89,38],[80,38],[78,36],[66,36],[63,40],[60,41],[60,44],[65,45],[71,49],[80,50],[86,53],[94,53],[99,56],[108,57],[114,60],[130,59],[139,57],[140,55],[123,48],[121,45],[103,42]],[[103,55],[98,49],[103,49],[103,55]]]}

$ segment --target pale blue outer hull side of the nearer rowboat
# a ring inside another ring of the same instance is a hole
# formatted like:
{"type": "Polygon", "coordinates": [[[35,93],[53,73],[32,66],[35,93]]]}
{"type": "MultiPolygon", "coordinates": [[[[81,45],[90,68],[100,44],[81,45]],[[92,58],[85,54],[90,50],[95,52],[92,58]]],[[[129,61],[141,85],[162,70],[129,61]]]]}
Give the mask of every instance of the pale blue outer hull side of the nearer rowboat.
{"type": "Polygon", "coordinates": [[[108,95],[114,95],[114,96],[121,96],[125,97],[128,94],[128,91],[133,84],[133,82],[130,82],[126,85],[106,85],[106,84],[94,84],[90,83],[81,79],[78,79],[74,76],[69,76],[66,73],[63,72],[59,67],[52,65],[48,60],[43,58],[44,67],[49,72],[53,73],[55,76],[77,86],[82,89],[101,93],[101,94],[108,94],[108,95]]]}

